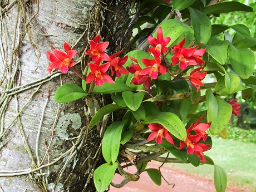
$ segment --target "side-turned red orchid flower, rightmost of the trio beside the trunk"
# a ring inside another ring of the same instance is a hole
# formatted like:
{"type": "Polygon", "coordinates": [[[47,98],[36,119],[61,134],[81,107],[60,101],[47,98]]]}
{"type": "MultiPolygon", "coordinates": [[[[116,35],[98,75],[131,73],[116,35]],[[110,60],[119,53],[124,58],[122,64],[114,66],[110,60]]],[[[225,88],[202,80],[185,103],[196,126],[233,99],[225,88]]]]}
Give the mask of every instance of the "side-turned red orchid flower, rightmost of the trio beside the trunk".
{"type": "Polygon", "coordinates": [[[121,77],[121,74],[129,75],[129,72],[125,69],[125,67],[122,66],[126,63],[128,56],[125,56],[123,58],[116,57],[121,52],[122,52],[122,50],[117,53],[114,53],[113,55],[110,56],[110,58],[111,58],[111,61],[110,61],[111,76],[113,76],[115,72],[116,72],[116,77],[121,77]]]}

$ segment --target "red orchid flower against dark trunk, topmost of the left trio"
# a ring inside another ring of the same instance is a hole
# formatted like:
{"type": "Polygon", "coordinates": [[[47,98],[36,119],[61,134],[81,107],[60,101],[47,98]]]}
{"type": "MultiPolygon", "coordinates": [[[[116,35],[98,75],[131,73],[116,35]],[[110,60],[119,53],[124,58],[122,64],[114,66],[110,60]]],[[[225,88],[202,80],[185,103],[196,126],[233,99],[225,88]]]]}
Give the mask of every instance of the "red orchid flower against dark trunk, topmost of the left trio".
{"type": "Polygon", "coordinates": [[[109,42],[101,42],[100,41],[101,36],[97,35],[93,40],[90,40],[90,49],[86,51],[85,53],[87,55],[90,55],[92,57],[92,61],[96,62],[101,57],[104,61],[111,61],[111,58],[107,53],[104,53],[107,46],[109,45],[109,42]]]}

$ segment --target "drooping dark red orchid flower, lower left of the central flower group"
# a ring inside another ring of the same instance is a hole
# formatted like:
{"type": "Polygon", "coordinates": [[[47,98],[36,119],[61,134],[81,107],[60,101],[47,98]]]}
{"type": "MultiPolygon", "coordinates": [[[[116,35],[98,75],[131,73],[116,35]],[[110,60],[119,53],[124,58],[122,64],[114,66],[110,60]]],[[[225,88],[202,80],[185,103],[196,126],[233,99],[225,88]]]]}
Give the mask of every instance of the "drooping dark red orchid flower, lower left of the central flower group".
{"type": "MultiPolygon", "coordinates": [[[[138,62],[136,58],[132,58],[132,57],[130,58],[135,63],[138,62]]],[[[126,67],[127,71],[129,71],[130,73],[134,73],[134,77],[131,80],[131,84],[132,83],[134,83],[134,85],[143,84],[143,86],[149,92],[151,87],[151,78],[149,75],[141,75],[140,72],[142,71],[142,69],[140,68],[139,64],[134,64],[134,62],[132,62],[132,65],[130,67],[126,67]]]]}

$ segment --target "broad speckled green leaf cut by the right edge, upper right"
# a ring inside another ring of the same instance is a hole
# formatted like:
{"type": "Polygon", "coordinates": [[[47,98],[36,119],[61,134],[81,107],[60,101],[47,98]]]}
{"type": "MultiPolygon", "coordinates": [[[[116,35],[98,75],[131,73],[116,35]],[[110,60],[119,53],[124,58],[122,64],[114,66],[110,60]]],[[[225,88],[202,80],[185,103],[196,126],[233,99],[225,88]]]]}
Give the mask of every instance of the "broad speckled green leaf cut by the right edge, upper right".
{"type": "Polygon", "coordinates": [[[228,47],[228,57],[234,71],[243,79],[249,78],[255,66],[255,55],[249,50],[238,50],[231,43],[228,47]]]}

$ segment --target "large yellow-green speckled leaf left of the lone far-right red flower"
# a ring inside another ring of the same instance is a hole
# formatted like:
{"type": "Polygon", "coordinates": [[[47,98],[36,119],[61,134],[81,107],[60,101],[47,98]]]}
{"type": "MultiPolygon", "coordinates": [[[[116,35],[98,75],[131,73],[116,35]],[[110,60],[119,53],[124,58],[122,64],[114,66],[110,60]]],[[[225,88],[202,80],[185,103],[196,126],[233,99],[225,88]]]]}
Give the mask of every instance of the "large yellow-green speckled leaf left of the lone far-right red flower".
{"type": "Polygon", "coordinates": [[[207,120],[211,121],[209,130],[211,134],[217,135],[228,125],[232,115],[232,106],[219,97],[215,97],[210,88],[206,90],[205,96],[208,105],[207,120]]]}

